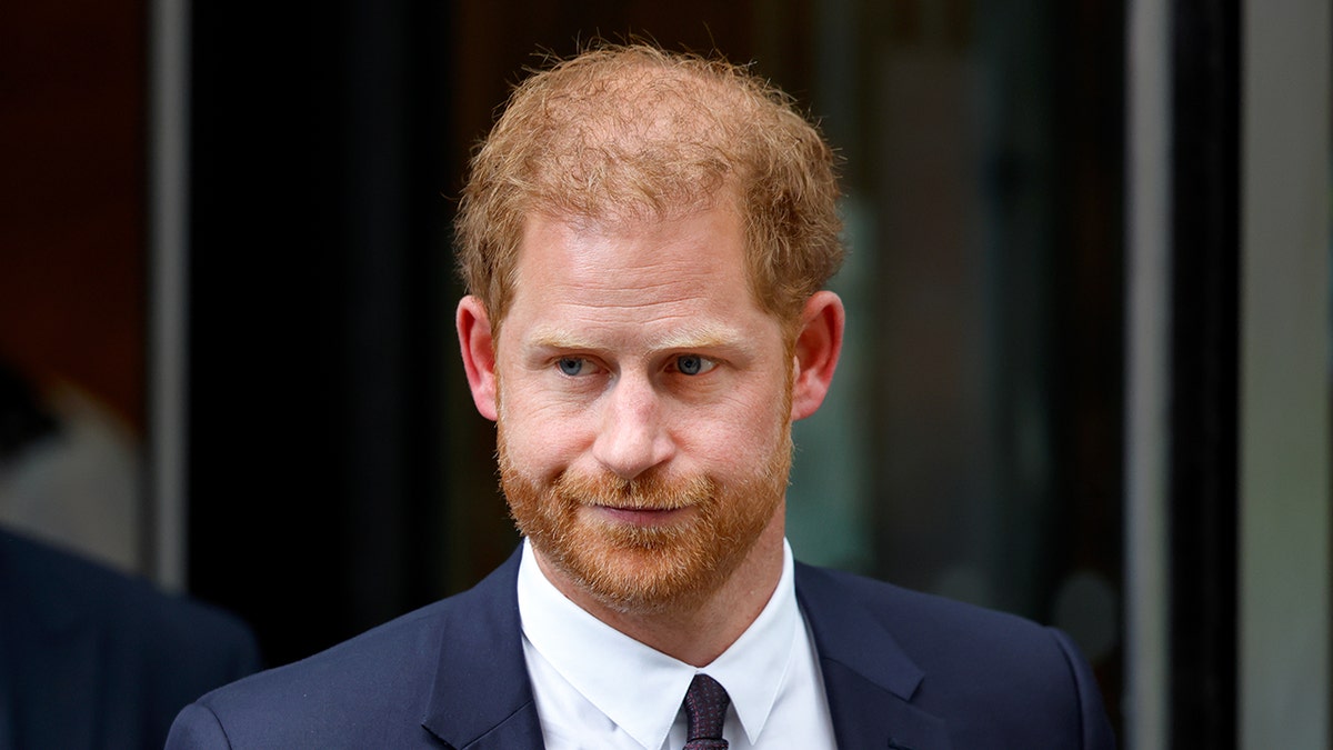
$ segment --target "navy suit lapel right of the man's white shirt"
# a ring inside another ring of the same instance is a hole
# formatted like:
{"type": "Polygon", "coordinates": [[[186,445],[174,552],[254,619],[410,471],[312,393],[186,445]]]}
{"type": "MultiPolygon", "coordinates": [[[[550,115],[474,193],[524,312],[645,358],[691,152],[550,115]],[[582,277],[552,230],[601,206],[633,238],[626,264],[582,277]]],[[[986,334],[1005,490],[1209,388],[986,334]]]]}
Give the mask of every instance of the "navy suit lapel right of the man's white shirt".
{"type": "Polygon", "coordinates": [[[796,567],[796,597],[814,635],[838,747],[949,750],[944,722],[912,705],[924,673],[884,623],[805,565],[796,567]]]}

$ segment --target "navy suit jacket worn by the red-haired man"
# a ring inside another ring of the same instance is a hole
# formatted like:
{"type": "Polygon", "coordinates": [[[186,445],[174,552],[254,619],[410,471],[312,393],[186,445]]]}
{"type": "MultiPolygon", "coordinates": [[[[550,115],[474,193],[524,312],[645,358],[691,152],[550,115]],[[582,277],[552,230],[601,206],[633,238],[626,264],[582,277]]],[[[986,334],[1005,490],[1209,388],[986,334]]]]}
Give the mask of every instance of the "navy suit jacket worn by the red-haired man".
{"type": "MultiPolygon", "coordinates": [[[[168,749],[541,747],[519,555],[475,589],[213,691],[168,749]]],[[[797,565],[838,747],[1106,750],[1088,665],[1061,633],[797,565]]]]}

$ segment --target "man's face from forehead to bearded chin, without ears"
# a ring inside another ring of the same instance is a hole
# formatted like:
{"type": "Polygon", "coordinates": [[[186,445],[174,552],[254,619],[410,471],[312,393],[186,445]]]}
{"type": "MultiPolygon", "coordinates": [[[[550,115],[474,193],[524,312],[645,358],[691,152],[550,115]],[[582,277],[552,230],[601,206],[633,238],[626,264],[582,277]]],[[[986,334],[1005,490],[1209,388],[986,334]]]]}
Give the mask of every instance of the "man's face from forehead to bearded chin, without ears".
{"type": "Polygon", "coordinates": [[[532,216],[496,342],[500,471],[556,585],[689,607],[782,535],[792,354],[729,208],[532,216]]]}

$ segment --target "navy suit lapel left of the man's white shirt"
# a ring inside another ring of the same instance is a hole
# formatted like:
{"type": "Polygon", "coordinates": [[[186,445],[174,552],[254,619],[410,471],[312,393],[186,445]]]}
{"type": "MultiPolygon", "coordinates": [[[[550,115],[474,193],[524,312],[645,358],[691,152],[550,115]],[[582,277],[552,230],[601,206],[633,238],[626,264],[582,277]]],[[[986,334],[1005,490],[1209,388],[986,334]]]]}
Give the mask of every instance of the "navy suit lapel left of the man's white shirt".
{"type": "Polygon", "coordinates": [[[451,747],[541,747],[519,622],[519,552],[460,594],[421,726],[451,747]]]}

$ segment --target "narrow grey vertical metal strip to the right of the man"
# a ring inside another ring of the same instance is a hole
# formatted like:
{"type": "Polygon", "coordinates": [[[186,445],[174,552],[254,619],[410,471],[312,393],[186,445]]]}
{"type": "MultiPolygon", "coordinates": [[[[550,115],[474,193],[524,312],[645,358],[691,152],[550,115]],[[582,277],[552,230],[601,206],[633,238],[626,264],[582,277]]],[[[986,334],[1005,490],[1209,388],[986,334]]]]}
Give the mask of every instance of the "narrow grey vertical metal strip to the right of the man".
{"type": "Polygon", "coordinates": [[[1161,750],[1168,713],[1170,8],[1130,4],[1125,395],[1125,747],[1161,750]]]}

